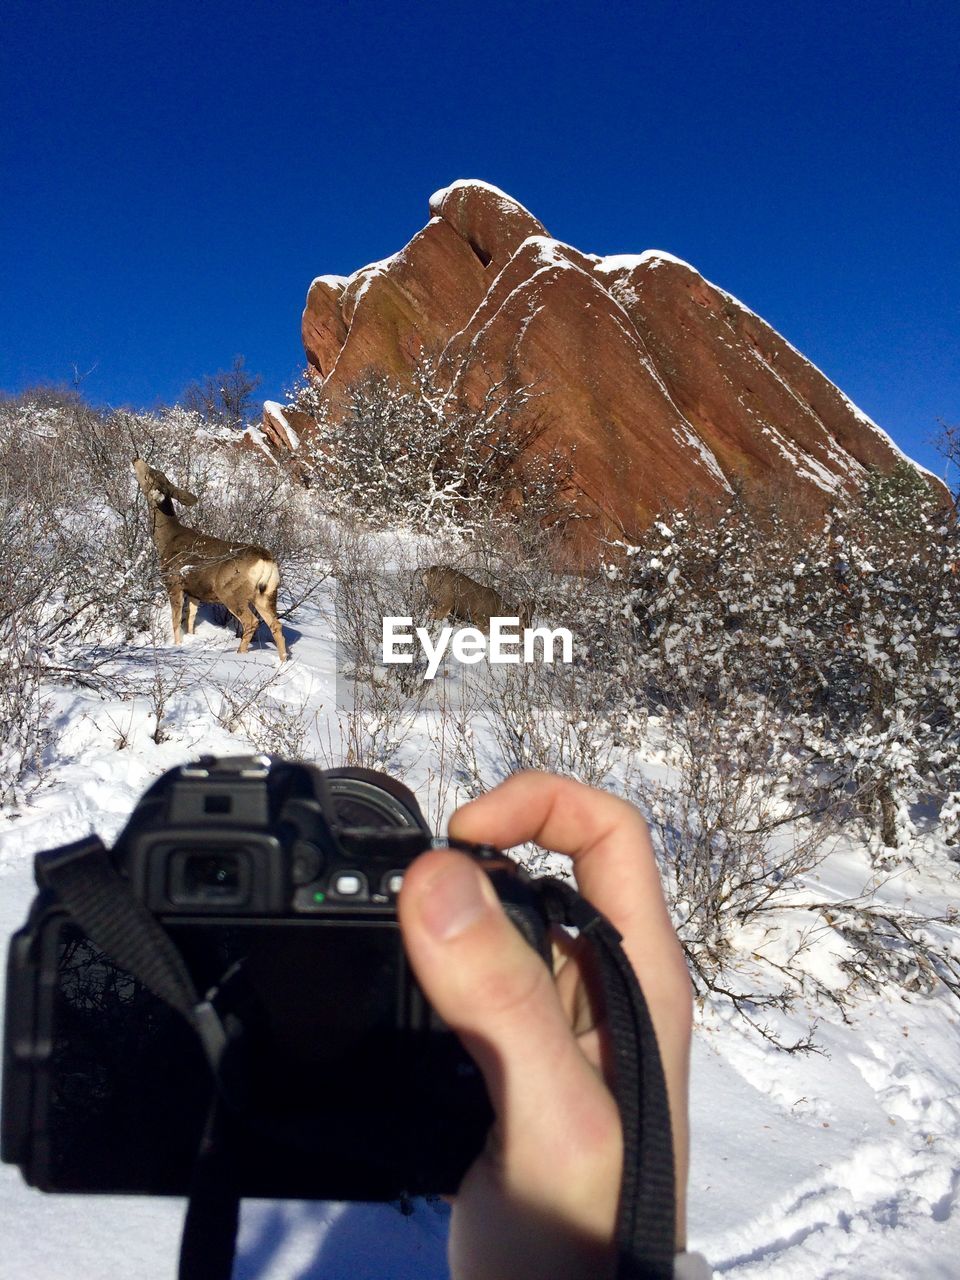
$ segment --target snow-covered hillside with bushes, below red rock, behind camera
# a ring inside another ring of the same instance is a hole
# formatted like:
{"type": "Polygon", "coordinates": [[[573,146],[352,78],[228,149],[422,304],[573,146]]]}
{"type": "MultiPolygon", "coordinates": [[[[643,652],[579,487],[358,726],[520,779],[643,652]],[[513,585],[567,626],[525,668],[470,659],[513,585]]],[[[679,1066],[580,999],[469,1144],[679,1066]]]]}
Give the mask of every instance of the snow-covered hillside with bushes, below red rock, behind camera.
{"type": "MultiPolygon", "coordinates": [[[[150,782],[201,753],[388,769],[438,832],[513,768],[575,773],[646,809],[698,965],[691,1245],[733,1280],[956,1276],[955,531],[911,526],[915,485],[893,476],[869,517],[883,536],[861,513],[801,554],[742,511],[717,529],[659,521],[620,567],[571,580],[517,524],[499,543],[488,525],[461,536],[489,493],[466,465],[425,483],[438,436],[422,406],[384,393],[375,408],[393,452],[358,411],[338,467],[321,457],[305,489],[179,410],[0,403],[3,938],[26,918],[36,851],[111,841],[150,782]],[[198,495],[191,521],[278,556],[289,662],[262,627],[236,653],[212,607],[172,643],[129,465],[147,451],[198,495]],[[570,676],[451,662],[430,682],[378,667],[371,622],[422,617],[412,571],[436,562],[591,627],[588,659],[570,676]],[[886,718],[864,713],[864,690],[886,718]],[[810,1051],[778,1047],[797,1043],[810,1051]]],[[[0,1166],[0,1276],[161,1280],[182,1215],[44,1196],[0,1166]]],[[[433,1201],[248,1203],[236,1275],[442,1280],[448,1217],[433,1201]]]]}

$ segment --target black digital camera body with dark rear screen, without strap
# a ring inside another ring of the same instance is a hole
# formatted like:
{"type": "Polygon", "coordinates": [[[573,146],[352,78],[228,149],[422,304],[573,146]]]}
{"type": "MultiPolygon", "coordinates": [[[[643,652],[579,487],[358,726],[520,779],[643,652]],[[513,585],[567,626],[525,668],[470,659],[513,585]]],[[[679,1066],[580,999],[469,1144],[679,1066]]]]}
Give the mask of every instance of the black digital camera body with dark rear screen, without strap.
{"type": "MultiPolygon", "coordinates": [[[[483,1079],[397,922],[406,868],[438,844],[367,769],[207,756],[137,804],[113,865],[241,1029],[223,1139],[239,1196],[453,1193],[483,1147],[483,1079]]],[[[548,961],[529,878],[468,851],[548,961]]],[[[0,1155],[44,1190],[186,1196],[218,1087],[200,1039],[44,887],[45,856],[10,942],[0,1155]]]]}

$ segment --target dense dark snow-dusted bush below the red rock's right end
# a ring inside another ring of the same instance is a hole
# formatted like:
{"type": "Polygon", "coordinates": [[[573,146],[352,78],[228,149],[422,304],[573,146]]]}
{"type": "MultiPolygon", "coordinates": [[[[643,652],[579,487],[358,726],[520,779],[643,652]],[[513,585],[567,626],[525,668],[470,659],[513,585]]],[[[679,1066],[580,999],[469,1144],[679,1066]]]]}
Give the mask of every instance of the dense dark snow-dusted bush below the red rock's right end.
{"type": "Polygon", "coordinates": [[[801,808],[855,801],[883,845],[960,769],[956,524],[910,466],[869,475],[813,531],[736,499],[658,521],[612,570],[663,713],[707,703],[749,723],[771,703],[801,808]]]}

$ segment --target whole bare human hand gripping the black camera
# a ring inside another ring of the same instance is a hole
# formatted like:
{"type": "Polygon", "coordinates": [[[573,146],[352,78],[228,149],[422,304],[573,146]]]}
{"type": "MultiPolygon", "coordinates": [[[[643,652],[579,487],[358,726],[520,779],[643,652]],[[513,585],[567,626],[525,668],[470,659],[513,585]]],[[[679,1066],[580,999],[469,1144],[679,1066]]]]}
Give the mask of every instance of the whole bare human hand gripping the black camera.
{"type": "MultiPolygon", "coordinates": [[[[580,892],[622,934],[663,1060],[682,1249],[691,989],[643,817],[571,778],[525,772],[458,809],[451,835],[568,854],[580,892]]],[[[410,867],[399,922],[417,979],[476,1060],[495,1115],[454,1201],[454,1280],[612,1276],[623,1142],[589,954],[556,946],[550,977],[484,872],[449,850],[410,867]]]]}

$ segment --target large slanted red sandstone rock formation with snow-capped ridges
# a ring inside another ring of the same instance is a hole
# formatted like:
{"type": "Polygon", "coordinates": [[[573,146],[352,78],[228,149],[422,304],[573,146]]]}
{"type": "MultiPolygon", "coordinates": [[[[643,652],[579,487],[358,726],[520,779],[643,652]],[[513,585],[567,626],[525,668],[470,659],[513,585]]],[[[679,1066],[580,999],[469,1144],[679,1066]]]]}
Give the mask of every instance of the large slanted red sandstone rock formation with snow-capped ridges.
{"type": "MultiPolygon", "coordinates": [[[[572,451],[581,538],[585,527],[630,534],[733,484],[822,509],[864,467],[902,458],[790,343],[686,262],[581,253],[481,182],[436,192],[430,212],[393,257],[310,287],[303,347],[334,415],[358,379],[402,380],[424,351],[467,397],[507,375],[536,384],[549,422],[536,448],[572,451]]],[[[276,443],[287,434],[275,410],[265,431],[276,443]]]]}

